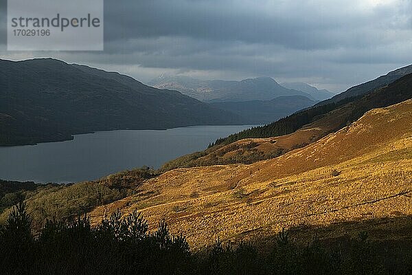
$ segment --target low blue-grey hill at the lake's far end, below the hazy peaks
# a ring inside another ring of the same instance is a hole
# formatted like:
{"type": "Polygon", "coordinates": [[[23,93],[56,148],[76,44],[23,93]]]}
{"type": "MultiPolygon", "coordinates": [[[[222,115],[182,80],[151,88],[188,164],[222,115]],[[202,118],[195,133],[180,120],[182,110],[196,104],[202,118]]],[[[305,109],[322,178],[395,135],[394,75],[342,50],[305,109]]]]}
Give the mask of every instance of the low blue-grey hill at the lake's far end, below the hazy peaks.
{"type": "Polygon", "coordinates": [[[236,113],[247,124],[266,124],[301,109],[312,106],[316,101],[305,96],[281,96],[273,100],[253,100],[242,102],[216,102],[212,106],[236,113]]]}

